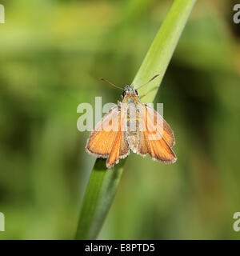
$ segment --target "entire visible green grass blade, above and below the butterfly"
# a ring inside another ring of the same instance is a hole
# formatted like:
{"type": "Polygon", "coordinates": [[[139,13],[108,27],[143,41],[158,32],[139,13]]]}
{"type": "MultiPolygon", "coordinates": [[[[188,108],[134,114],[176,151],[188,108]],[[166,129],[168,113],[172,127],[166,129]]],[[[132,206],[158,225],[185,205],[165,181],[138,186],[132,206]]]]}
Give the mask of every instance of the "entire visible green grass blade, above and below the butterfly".
{"type": "MultiPolygon", "coordinates": [[[[158,78],[139,90],[138,94],[148,93],[144,102],[154,101],[195,1],[175,0],[164,22],[162,22],[138,74],[134,78],[134,85],[137,89],[154,74],[159,74],[158,78]]],[[[76,239],[94,239],[97,237],[118,188],[125,161],[126,159],[121,160],[113,169],[106,170],[106,160],[97,159],[83,198],[76,239]]]]}

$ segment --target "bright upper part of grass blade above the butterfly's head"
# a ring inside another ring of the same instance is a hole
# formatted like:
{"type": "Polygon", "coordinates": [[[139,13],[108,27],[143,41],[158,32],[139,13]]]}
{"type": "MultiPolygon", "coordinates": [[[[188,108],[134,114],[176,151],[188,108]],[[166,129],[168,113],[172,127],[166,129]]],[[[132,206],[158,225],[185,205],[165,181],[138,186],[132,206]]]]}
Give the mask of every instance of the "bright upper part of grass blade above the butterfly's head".
{"type": "Polygon", "coordinates": [[[134,87],[138,89],[138,86],[147,82],[155,74],[159,74],[158,78],[138,91],[138,94],[146,94],[142,102],[154,101],[170,58],[195,2],[195,0],[175,0],[164,22],[162,22],[162,26],[148,50],[138,74],[134,78],[134,87]]]}

